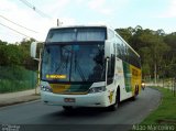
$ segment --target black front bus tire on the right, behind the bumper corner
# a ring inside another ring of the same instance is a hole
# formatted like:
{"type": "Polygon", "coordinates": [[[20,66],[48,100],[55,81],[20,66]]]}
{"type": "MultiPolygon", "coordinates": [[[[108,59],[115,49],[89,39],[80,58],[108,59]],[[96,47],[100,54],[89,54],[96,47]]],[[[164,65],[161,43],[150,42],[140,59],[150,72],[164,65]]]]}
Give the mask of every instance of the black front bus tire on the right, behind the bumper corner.
{"type": "Polygon", "coordinates": [[[120,88],[118,87],[116,102],[109,107],[110,111],[116,111],[119,108],[120,103],[120,88]]]}

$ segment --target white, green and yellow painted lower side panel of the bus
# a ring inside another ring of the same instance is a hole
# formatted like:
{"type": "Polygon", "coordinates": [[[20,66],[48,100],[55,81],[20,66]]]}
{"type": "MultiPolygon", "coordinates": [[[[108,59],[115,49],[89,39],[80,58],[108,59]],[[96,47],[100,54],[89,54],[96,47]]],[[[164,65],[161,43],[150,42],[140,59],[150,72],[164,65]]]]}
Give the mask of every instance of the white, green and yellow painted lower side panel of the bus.
{"type": "MultiPolygon", "coordinates": [[[[116,79],[120,86],[120,99],[128,99],[135,94],[135,87],[141,91],[141,69],[117,58],[116,79]]],[[[117,83],[117,81],[116,81],[117,83]]],[[[117,87],[118,87],[117,85],[117,87]]]]}

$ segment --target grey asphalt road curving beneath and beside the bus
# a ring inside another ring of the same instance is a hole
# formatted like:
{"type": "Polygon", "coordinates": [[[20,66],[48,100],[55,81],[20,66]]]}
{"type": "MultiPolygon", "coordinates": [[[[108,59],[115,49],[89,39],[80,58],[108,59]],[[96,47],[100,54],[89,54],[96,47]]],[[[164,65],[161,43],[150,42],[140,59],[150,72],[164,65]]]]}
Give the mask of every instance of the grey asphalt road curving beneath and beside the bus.
{"type": "Polygon", "coordinates": [[[145,88],[135,101],[125,100],[112,112],[103,108],[76,108],[65,112],[62,107],[45,106],[41,101],[21,103],[0,108],[0,131],[6,128],[16,131],[129,130],[156,109],[160,101],[161,94],[157,90],[145,88]]]}

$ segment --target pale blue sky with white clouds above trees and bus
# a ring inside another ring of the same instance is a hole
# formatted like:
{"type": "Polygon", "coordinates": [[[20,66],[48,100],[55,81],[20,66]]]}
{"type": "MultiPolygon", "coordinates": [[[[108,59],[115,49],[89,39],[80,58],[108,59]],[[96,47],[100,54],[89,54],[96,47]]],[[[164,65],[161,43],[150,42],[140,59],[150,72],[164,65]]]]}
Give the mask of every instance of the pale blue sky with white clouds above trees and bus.
{"type": "Polygon", "coordinates": [[[0,40],[15,43],[34,37],[43,42],[57,19],[62,26],[141,25],[172,33],[176,32],[176,0],[0,0],[0,40]]]}

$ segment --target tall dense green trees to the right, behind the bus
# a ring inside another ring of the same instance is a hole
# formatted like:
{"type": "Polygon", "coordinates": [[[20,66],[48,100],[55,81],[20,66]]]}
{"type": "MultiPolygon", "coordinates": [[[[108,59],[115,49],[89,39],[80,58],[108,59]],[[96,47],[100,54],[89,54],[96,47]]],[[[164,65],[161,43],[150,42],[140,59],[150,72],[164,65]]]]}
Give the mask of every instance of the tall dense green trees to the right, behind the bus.
{"type": "Polygon", "coordinates": [[[141,56],[143,77],[176,77],[176,33],[165,34],[163,30],[132,29],[116,30],[141,56]],[[156,68],[154,68],[156,66],[156,68]]]}

